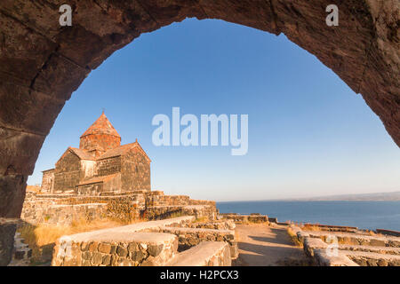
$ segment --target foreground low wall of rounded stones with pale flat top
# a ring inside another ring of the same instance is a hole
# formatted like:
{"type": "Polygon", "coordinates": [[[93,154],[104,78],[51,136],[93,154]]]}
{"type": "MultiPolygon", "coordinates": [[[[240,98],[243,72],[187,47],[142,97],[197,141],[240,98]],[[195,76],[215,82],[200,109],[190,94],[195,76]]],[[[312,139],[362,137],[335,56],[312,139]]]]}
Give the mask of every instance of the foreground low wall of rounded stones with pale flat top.
{"type": "Polygon", "coordinates": [[[52,265],[164,265],[177,247],[178,238],[168,233],[80,233],[56,242],[52,265]]]}

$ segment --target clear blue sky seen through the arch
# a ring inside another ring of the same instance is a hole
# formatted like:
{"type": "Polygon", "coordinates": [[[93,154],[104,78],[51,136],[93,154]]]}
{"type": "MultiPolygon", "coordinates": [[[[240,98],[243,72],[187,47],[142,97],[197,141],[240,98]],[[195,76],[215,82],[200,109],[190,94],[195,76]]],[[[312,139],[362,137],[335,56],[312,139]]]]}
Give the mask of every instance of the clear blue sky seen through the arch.
{"type": "Polygon", "coordinates": [[[153,190],[216,201],[400,190],[400,151],[364,99],[285,36],[185,20],[116,51],[61,111],[28,184],[41,182],[106,108],[139,139],[153,190]],[[155,114],[248,114],[249,150],[156,147],[155,114]]]}

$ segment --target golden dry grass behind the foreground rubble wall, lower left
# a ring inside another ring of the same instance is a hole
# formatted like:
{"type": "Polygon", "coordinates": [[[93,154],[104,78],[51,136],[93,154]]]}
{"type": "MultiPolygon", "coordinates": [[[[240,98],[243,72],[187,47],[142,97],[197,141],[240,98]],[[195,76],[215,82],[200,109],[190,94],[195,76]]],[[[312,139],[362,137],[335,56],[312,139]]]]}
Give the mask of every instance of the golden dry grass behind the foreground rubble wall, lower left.
{"type": "MultiPolygon", "coordinates": [[[[135,220],[130,222],[138,223],[145,220],[135,220]]],[[[22,225],[18,232],[21,237],[32,248],[32,264],[47,263],[52,259],[52,248],[55,241],[63,235],[70,235],[74,233],[84,233],[105,228],[112,228],[121,225],[127,225],[126,222],[119,222],[116,220],[93,220],[87,221],[81,219],[73,222],[71,225],[22,225]]]]}

